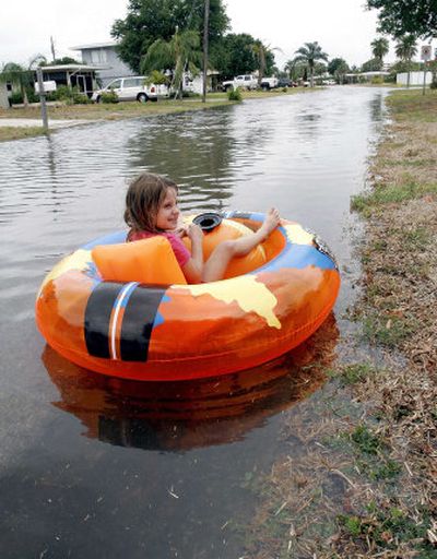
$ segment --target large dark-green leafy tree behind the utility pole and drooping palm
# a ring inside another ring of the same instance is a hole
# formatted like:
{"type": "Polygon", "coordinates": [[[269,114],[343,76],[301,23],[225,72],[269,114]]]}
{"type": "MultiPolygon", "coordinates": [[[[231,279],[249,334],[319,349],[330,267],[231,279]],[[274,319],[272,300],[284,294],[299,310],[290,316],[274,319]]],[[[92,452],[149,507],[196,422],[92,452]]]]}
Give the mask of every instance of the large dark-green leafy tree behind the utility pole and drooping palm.
{"type": "MultiPolygon", "coordinates": [[[[119,39],[121,60],[139,72],[141,58],[157,39],[169,41],[178,28],[203,31],[204,0],[129,0],[128,15],[116,20],[111,36],[119,39]]],[[[209,43],[211,48],[227,29],[229,20],[223,0],[210,0],[209,43]]]]}

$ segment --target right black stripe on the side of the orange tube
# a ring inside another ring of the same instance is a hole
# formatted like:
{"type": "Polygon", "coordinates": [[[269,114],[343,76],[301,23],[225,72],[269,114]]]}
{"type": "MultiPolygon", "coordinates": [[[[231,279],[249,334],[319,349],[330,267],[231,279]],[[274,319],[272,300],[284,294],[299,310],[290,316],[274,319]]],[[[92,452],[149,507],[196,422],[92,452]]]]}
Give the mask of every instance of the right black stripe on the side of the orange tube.
{"type": "Polygon", "coordinates": [[[166,287],[139,285],[129,298],[121,324],[122,361],[146,361],[152,326],[166,287]]]}

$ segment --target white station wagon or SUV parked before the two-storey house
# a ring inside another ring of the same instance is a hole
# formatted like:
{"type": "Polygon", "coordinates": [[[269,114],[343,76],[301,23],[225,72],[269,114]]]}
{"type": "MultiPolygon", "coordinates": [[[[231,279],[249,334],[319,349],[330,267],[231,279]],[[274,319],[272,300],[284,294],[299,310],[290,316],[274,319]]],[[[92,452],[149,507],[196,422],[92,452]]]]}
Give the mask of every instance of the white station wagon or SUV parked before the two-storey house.
{"type": "Polygon", "coordinates": [[[156,102],[158,97],[168,97],[168,87],[166,85],[145,85],[144,75],[130,75],[127,78],[117,78],[109,82],[106,87],[93,93],[92,99],[101,103],[102,94],[116,93],[118,100],[138,100],[146,103],[156,102]]]}

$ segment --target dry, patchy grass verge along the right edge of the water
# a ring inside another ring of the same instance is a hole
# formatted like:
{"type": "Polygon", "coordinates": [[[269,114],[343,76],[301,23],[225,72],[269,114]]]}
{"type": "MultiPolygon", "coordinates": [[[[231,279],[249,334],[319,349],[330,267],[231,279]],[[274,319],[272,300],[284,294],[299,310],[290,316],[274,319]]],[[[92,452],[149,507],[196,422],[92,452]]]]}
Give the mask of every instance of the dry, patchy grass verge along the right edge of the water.
{"type": "Polygon", "coordinates": [[[253,485],[250,559],[437,557],[437,93],[388,105],[371,188],[352,202],[366,226],[358,333],[253,485]]]}

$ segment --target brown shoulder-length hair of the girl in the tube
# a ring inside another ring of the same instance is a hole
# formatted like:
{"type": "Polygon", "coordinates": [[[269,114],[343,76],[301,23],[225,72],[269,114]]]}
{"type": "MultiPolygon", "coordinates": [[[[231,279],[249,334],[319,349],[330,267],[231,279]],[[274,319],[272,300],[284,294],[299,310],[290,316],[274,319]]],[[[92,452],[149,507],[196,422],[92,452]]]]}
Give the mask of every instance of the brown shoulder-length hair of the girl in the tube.
{"type": "Polygon", "coordinates": [[[126,193],[127,225],[135,231],[158,233],[156,215],[169,188],[178,191],[176,182],[160,175],[143,173],[137,177],[126,193]]]}

